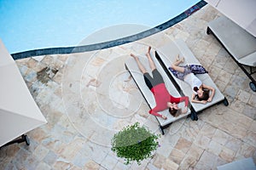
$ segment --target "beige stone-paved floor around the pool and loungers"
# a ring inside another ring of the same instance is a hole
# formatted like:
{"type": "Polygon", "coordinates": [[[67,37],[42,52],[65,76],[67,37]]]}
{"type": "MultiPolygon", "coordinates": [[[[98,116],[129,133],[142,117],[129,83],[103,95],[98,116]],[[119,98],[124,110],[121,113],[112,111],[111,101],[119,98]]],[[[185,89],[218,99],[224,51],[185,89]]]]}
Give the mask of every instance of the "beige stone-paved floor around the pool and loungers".
{"type": "Polygon", "coordinates": [[[172,28],[137,42],[81,54],[16,60],[48,123],[27,133],[30,146],[0,150],[0,169],[217,169],[230,161],[256,161],[256,94],[230,55],[206,34],[220,14],[205,6],[172,28]],[[129,54],[144,54],[182,38],[209,71],[230,105],[213,105],[193,122],[173,122],[152,159],[138,166],[115,156],[111,138],[140,122],[160,133],[135,82],[125,71],[129,54]]]}

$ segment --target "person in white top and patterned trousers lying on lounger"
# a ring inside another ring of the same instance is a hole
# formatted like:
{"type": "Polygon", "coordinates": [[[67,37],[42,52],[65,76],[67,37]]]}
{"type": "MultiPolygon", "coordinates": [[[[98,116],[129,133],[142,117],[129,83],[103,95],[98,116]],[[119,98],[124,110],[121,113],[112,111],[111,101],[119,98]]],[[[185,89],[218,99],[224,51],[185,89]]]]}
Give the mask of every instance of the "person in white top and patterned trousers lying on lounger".
{"type": "Polygon", "coordinates": [[[211,102],[212,98],[215,94],[215,89],[211,86],[207,86],[197,77],[195,77],[196,73],[203,74],[207,73],[205,68],[201,65],[185,65],[178,66],[180,63],[184,62],[184,58],[179,59],[179,55],[177,55],[176,61],[169,68],[172,71],[173,75],[184,82],[188,82],[190,87],[192,88],[192,98],[191,101],[194,103],[206,104],[207,102],[211,102]],[[211,95],[209,94],[210,92],[211,95]]]}

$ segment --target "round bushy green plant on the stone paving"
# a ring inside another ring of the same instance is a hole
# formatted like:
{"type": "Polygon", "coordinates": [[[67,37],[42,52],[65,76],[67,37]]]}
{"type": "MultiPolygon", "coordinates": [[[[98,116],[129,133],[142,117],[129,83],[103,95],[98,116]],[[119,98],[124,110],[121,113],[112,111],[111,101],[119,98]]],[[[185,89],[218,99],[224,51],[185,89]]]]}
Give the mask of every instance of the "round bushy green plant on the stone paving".
{"type": "Polygon", "coordinates": [[[131,161],[141,161],[148,157],[153,157],[153,151],[159,146],[157,139],[160,135],[151,133],[146,127],[141,127],[139,122],[131,126],[124,127],[119,133],[115,133],[111,140],[113,152],[118,157],[125,158],[125,164],[131,161]]]}

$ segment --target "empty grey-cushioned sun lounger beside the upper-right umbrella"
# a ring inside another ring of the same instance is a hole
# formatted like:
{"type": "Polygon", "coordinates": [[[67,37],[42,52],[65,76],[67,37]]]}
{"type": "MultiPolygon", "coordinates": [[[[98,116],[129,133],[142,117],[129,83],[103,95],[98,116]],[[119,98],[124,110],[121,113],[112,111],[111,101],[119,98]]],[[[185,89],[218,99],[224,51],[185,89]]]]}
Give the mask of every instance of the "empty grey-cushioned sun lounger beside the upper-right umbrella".
{"type": "Polygon", "coordinates": [[[253,67],[256,66],[256,37],[225,16],[208,23],[207,34],[210,33],[217,37],[236,64],[250,78],[250,88],[255,92],[256,81],[252,75],[256,72],[253,72],[253,67]],[[247,65],[250,71],[247,71],[244,65],[247,65]]]}

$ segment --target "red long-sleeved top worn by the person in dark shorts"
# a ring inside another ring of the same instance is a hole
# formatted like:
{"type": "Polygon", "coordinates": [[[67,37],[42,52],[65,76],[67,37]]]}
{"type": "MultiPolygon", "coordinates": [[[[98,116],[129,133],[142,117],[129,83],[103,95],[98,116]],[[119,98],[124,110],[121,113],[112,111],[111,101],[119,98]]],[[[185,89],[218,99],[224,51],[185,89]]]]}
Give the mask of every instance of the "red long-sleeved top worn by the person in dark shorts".
{"type": "Polygon", "coordinates": [[[161,116],[158,111],[164,111],[166,110],[167,107],[167,102],[171,103],[180,103],[185,101],[185,106],[188,106],[189,104],[189,97],[188,96],[183,96],[179,98],[173,97],[171,94],[166,89],[165,83],[160,83],[153,88],[151,88],[151,92],[154,94],[154,99],[156,106],[149,111],[150,114],[154,116],[161,116]]]}

